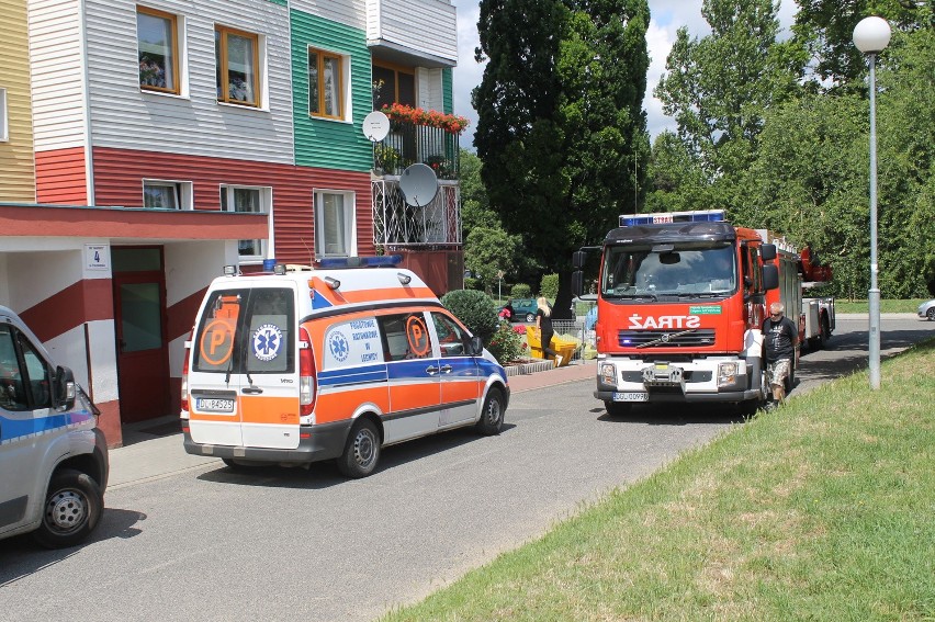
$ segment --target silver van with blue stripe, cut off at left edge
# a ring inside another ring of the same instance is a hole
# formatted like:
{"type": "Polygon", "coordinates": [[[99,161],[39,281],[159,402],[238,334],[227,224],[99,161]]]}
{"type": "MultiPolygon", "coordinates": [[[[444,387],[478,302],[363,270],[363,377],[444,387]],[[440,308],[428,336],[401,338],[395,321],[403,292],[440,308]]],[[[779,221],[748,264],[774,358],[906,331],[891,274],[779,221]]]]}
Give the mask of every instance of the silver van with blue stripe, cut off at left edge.
{"type": "Polygon", "coordinates": [[[97,527],[109,475],[97,415],[71,371],[0,306],[0,539],[33,532],[58,549],[97,527]]]}

